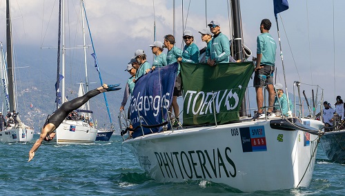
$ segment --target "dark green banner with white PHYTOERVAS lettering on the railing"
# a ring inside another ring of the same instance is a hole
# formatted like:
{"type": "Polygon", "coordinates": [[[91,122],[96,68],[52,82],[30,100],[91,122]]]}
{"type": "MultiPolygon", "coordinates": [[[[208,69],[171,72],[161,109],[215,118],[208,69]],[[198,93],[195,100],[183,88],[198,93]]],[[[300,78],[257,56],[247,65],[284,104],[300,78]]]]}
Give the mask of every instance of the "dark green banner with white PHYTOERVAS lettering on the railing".
{"type": "Polygon", "coordinates": [[[239,108],[250,76],[251,61],[219,63],[181,63],[184,96],[184,126],[226,124],[239,119],[239,108]]]}

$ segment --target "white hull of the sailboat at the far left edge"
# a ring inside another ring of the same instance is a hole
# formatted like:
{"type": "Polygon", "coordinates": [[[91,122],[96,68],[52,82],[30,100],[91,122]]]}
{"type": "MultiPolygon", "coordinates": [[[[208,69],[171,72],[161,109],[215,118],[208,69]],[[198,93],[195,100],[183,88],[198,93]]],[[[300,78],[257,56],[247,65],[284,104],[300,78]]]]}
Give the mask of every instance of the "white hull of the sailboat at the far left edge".
{"type": "Polygon", "coordinates": [[[9,128],[0,131],[0,141],[5,143],[12,142],[27,142],[31,141],[34,137],[34,130],[29,128],[9,128]]]}

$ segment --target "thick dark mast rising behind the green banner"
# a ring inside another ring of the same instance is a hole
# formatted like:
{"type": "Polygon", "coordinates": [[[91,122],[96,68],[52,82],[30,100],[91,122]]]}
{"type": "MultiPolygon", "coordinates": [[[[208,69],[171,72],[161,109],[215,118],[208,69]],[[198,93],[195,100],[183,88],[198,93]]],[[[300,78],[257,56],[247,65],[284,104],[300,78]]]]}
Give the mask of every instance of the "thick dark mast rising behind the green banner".
{"type": "MultiPolygon", "coordinates": [[[[243,46],[242,46],[242,19],[241,19],[241,10],[239,8],[239,0],[231,1],[231,9],[233,11],[233,29],[234,37],[233,44],[235,48],[235,60],[243,60],[243,46]]],[[[239,110],[239,116],[244,117],[247,115],[246,109],[246,96],[242,99],[241,109],[239,110]]]]}

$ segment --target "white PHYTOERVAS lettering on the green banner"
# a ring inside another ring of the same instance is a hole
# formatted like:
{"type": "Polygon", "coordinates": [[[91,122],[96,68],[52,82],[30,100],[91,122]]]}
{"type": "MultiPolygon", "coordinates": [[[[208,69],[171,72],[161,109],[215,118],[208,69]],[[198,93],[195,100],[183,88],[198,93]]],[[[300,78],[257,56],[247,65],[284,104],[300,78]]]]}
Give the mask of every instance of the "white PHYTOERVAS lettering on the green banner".
{"type": "MultiPolygon", "coordinates": [[[[241,86],[239,86],[239,88],[241,88],[241,86]]],[[[193,115],[212,114],[213,98],[215,99],[216,113],[219,113],[221,106],[226,106],[226,110],[234,110],[239,104],[239,97],[237,92],[233,92],[233,89],[230,91],[219,90],[217,92],[197,92],[194,90],[187,90],[186,95],[184,96],[184,100],[188,101],[186,113],[189,114],[192,112],[193,115]],[[224,92],[223,95],[221,95],[221,92],[224,92]]]]}

